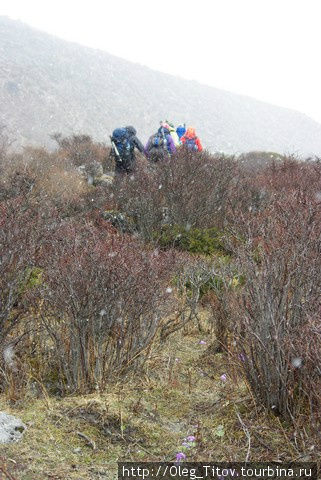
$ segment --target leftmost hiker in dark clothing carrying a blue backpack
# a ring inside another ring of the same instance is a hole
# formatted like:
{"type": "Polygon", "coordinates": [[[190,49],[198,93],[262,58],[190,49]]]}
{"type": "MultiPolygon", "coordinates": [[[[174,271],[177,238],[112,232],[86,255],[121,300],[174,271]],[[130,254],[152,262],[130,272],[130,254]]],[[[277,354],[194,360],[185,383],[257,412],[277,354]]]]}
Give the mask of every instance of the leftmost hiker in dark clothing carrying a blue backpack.
{"type": "Polygon", "coordinates": [[[136,129],[132,126],[116,128],[110,137],[115,159],[115,173],[133,173],[136,167],[135,148],[144,153],[144,145],[136,137],[136,129]]]}

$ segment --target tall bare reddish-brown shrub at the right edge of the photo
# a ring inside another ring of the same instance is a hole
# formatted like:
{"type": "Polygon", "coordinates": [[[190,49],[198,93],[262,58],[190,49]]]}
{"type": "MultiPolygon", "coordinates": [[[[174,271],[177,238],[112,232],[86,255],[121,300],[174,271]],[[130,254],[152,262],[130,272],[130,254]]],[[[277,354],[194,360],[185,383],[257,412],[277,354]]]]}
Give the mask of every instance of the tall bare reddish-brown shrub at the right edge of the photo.
{"type": "Polygon", "coordinates": [[[320,411],[314,393],[321,371],[319,175],[315,165],[273,166],[262,179],[272,193],[269,204],[239,213],[233,225],[246,279],[229,306],[237,361],[255,396],[294,422],[306,417],[307,408],[310,419],[320,411]]]}

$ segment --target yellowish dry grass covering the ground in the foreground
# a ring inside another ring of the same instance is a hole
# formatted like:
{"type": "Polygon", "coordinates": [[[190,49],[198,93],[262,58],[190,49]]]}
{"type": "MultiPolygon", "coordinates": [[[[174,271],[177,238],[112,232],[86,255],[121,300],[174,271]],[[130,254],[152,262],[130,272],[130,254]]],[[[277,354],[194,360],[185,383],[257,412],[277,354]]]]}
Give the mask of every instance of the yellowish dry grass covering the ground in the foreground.
{"type": "Polygon", "coordinates": [[[221,355],[205,353],[212,341],[178,332],[151,352],[144,376],[104,393],[14,407],[2,398],[1,410],[28,425],[20,443],[1,446],[8,470],[19,480],[114,478],[120,460],[174,460],[187,435],[197,437],[190,461],[320,459],[254,404],[221,355]]]}

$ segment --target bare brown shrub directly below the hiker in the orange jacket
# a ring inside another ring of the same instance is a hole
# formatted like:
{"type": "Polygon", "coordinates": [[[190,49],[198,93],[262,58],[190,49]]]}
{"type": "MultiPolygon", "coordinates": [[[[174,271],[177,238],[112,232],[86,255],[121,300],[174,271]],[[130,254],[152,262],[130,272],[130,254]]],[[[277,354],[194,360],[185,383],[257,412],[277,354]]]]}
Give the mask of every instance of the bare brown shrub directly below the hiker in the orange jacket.
{"type": "Polygon", "coordinates": [[[126,178],[115,197],[145,238],[164,223],[164,212],[172,224],[221,228],[236,170],[234,159],[179,150],[126,178]]]}

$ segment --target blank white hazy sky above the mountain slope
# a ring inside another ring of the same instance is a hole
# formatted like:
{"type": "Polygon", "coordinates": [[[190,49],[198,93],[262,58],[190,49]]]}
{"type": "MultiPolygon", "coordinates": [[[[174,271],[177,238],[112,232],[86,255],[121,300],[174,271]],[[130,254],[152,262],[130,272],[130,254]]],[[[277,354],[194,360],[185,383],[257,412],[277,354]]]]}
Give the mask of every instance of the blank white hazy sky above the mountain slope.
{"type": "Polygon", "coordinates": [[[1,0],[0,15],[321,122],[321,0],[1,0]]]}

